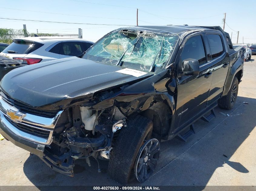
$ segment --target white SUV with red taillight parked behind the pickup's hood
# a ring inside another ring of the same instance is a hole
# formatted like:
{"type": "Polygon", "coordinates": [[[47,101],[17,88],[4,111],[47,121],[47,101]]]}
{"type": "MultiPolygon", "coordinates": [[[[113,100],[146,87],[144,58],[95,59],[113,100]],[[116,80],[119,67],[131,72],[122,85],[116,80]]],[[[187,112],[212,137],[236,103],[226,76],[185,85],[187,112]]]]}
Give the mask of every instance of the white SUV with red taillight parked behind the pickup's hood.
{"type": "Polygon", "coordinates": [[[24,37],[13,39],[0,55],[10,57],[24,65],[54,59],[80,56],[93,42],[78,38],[24,37]]]}

